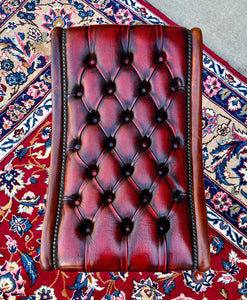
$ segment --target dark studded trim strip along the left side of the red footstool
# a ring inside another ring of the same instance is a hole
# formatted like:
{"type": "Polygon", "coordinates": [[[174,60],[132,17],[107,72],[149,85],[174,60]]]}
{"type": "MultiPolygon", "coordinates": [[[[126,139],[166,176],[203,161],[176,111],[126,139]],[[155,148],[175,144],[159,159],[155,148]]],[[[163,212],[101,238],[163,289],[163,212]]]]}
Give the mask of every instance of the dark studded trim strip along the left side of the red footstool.
{"type": "MultiPolygon", "coordinates": [[[[56,221],[53,236],[53,248],[52,248],[52,263],[54,269],[58,268],[57,258],[57,240],[58,240],[58,229],[61,219],[61,208],[62,199],[64,193],[64,176],[65,176],[65,160],[66,160],[66,141],[67,141],[67,83],[66,83],[66,30],[62,31],[62,157],[61,157],[61,176],[60,176],[60,187],[57,204],[56,221]]],[[[54,113],[54,112],[53,112],[54,113]]]]}

